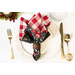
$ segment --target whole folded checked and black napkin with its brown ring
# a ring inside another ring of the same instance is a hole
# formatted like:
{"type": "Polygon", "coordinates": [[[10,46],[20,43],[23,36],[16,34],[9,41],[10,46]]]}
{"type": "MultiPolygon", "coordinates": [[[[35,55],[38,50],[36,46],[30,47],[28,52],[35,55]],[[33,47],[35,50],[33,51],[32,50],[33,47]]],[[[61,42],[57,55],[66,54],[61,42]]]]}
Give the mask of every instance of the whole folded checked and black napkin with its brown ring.
{"type": "Polygon", "coordinates": [[[28,43],[33,43],[33,58],[40,58],[40,43],[49,37],[48,27],[51,21],[46,16],[42,17],[41,13],[34,14],[30,20],[21,17],[19,39],[28,43]],[[25,22],[25,25],[23,24],[25,22]]]}

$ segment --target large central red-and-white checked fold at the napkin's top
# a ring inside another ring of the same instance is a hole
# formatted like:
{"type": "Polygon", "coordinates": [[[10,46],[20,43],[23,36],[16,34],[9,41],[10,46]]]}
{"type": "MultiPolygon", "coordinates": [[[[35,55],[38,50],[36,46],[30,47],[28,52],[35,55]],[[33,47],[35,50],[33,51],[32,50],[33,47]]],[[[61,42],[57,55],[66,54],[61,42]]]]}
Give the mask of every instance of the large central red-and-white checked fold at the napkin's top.
{"type": "Polygon", "coordinates": [[[29,20],[28,25],[35,31],[41,31],[41,14],[38,13],[37,15],[33,15],[33,17],[29,20]]]}

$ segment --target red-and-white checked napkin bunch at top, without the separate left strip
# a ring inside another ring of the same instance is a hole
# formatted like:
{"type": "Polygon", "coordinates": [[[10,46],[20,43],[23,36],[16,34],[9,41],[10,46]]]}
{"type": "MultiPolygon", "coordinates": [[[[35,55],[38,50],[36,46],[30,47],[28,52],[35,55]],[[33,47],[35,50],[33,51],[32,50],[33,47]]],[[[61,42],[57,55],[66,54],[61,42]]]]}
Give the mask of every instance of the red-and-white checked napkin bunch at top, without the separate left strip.
{"type": "Polygon", "coordinates": [[[36,32],[47,32],[50,23],[51,21],[47,15],[42,17],[41,13],[38,13],[33,15],[33,17],[29,20],[28,25],[36,32]]]}

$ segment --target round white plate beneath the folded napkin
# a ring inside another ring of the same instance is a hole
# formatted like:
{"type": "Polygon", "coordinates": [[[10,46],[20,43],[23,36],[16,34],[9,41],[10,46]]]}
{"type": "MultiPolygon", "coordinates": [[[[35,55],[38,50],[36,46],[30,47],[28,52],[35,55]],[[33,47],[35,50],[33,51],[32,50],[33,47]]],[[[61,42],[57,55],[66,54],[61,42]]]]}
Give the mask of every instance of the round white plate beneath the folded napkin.
{"type": "MultiPolygon", "coordinates": [[[[27,14],[28,13],[26,13],[26,16],[27,14]]],[[[56,57],[56,55],[59,52],[60,34],[58,27],[53,22],[51,22],[48,31],[50,32],[51,35],[43,43],[41,43],[41,57],[38,61],[48,61],[56,57]]],[[[33,54],[32,44],[20,41],[18,33],[19,31],[15,36],[18,51],[25,57],[25,60],[34,61],[32,57],[33,54]]]]}

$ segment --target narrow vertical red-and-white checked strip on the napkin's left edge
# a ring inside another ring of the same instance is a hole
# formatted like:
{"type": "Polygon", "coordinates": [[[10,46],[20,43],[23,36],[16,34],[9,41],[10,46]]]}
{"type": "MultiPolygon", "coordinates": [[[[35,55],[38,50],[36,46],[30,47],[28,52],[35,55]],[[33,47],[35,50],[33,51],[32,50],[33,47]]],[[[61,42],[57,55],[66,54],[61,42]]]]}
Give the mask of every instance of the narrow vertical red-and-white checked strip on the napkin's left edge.
{"type": "Polygon", "coordinates": [[[19,28],[19,39],[21,40],[23,36],[25,35],[24,30],[27,28],[28,20],[21,17],[20,19],[20,28],[19,28]],[[25,25],[23,24],[25,22],[25,25]]]}

